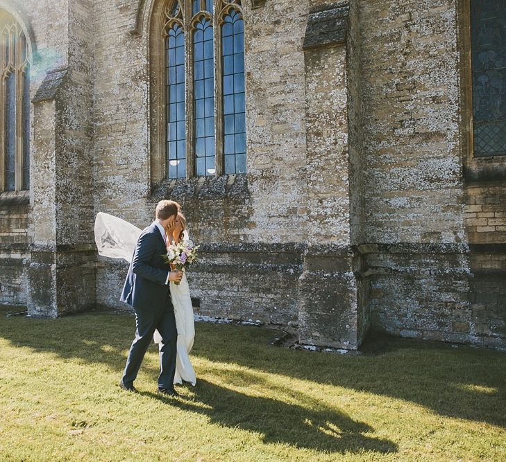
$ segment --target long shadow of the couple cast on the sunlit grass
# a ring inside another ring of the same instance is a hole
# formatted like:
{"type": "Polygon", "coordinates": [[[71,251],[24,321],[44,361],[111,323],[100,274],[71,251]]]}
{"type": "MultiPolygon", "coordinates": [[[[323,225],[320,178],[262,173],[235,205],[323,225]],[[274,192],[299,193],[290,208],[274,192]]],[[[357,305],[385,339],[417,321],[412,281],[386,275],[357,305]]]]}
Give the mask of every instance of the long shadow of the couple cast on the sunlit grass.
{"type": "MultiPolygon", "coordinates": [[[[250,380],[257,381],[258,377],[250,380]]],[[[248,396],[206,380],[199,380],[194,393],[193,399],[165,398],[149,391],[142,395],[203,414],[216,425],[255,432],[266,444],[285,443],[330,453],[397,452],[395,443],[366,436],[373,430],[369,425],[321,405],[320,409],[312,409],[264,396],[248,396]]]]}

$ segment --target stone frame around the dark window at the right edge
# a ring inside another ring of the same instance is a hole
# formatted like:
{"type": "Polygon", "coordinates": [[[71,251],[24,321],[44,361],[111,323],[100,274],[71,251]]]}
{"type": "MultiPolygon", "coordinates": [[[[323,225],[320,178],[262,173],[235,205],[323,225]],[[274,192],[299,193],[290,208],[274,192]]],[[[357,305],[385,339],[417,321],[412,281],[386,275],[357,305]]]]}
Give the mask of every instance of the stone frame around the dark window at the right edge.
{"type": "Polygon", "coordinates": [[[506,156],[475,157],[473,140],[473,79],[471,64],[471,0],[457,1],[457,40],[460,78],[460,139],[464,179],[506,179],[506,156]]]}

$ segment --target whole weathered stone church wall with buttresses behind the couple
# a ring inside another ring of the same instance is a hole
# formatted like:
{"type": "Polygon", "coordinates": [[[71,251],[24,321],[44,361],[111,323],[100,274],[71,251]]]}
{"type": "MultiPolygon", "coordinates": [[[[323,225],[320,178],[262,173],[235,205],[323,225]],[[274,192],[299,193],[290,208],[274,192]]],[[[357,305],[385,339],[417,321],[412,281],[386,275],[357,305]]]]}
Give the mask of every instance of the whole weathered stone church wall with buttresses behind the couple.
{"type": "Polygon", "coordinates": [[[19,10],[40,53],[33,181],[30,204],[0,197],[0,303],[128,309],[127,265],[96,258],[94,215],[143,228],[170,198],[203,244],[189,272],[199,314],[345,348],[370,325],[504,346],[504,175],[466,177],[457,0],[244,1],[248,173],[158,182],[161,1],[19,10]]]}

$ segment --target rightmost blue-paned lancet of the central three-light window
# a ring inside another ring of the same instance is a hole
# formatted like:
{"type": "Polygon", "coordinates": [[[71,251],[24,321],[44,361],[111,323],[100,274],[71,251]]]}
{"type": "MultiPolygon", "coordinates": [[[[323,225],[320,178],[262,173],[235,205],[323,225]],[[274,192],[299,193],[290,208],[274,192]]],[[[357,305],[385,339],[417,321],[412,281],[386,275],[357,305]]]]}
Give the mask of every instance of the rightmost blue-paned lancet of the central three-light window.
{"type": "Polygon", "coordinates": [[[225,173],[246,172],[244,21],[236,10],[222,27],[225,173]]]}

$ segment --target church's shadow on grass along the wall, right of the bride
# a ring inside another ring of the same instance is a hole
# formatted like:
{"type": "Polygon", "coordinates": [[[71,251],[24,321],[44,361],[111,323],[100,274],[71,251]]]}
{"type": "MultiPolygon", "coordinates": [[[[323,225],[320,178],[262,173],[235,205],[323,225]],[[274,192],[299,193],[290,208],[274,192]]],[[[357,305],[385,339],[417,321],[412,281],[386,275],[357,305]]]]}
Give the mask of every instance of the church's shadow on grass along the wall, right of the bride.
{"type": "Polygon", "coordinates": [[[263,345],[255,348],[255,328],[235,337],[230,327],[221,326],[221,337],[215,337],[214,344],[196,341],[192,354],[213,362],[399,398],[442,416],[506,427],[506,353],[394,337],[371,339],[381,345],[375,354],[295,353],[263,345]],[[233,351],[223,348],[228,341],[234,343],[233,351]]]}

